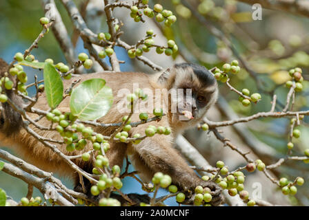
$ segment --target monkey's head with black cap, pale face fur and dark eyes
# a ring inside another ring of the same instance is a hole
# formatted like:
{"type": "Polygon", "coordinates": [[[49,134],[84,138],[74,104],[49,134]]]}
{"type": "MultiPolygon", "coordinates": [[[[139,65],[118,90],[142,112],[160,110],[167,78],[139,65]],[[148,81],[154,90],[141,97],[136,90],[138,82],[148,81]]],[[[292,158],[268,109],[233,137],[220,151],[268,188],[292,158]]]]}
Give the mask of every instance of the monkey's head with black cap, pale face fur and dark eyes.
{"type": "Polygon", "coordinates": [[[201,122],[217,100],[217,80],[200,65],[176,64],[159,76],[158,83],[169,91],[168,115],[177,127],[186,128],[201,122]]]}

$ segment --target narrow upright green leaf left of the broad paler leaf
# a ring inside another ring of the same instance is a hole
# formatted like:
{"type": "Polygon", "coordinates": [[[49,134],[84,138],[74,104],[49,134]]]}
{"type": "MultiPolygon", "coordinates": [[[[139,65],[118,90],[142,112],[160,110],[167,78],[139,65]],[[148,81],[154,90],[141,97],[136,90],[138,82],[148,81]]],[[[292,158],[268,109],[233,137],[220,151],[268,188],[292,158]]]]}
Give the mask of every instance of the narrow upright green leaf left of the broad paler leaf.
{"type": "Polygon", "coordinates": [[[54,109],[63,99],[63,83],[57,70],[50,63],[45,63],[43,75],[48,105],[54,109]]]}

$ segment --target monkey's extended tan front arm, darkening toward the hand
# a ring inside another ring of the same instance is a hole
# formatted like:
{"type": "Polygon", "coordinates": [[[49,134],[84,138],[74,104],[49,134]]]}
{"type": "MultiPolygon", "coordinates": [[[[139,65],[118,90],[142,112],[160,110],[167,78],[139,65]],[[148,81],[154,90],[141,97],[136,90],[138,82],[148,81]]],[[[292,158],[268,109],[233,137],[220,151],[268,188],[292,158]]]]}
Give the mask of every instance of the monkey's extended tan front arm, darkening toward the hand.
{"type": "Polygon", "coordinates": [[[170,175],[172,184],[177,185],[181,190],[194,192],[196,186],[210,188],[212,190],[210,194],[213,197],[211,203],[213,205],[221,203],[223,199],[221,188],[213,181],[204,181],[188,166],[172,147],[170,136],[146,138],[140,144],[134,145],[133,151],[135,153],[130,157],[132,164],[141,171],[140,177],[144,181],[150,181],[153,173],[162,172],[170,175]]]}

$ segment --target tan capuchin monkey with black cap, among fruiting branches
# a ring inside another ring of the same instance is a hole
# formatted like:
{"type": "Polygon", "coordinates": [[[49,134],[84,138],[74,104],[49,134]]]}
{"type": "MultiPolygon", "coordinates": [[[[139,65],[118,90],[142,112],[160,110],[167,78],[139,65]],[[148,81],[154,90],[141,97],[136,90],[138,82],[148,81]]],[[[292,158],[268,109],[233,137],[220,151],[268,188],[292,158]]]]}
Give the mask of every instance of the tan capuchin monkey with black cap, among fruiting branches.
{"type": "MultiPolygon", "coordinates": [[[[4,72],[8,71],[8,65],[0,59],[0,73],[3,76],[4,72]]],[[[149,183],[153,175],[161,172],[170,175],[172,184],[175,184],[179,190],[186,192],[194,192],[196,186],[208,187],[212,190],[212,205],[219,205],[223,201],[221,196],[221,188],[213,181],[204,181],[188,166],[187,162],[181,155],[173,148],[175,137],[192,126],[197,126],[202,121],[207,110],[217,100],[217,80],[215,80],[212,73],[205,67],[191,63],[181,63],[166,69],[164,72],[148,75],[139,72],[103,72],[94,74],[85,74],[74,77],[70,80],[64,80],[64,89],[71,87],[73,80],[81,79],[79,83],[90,78],[103,78],[106,80],[106,85],[112,89],[114,96],[111,109],[97,122],[102,123],[119,123],[124,115],[128,113],[119,113],[117,103],[121,102],[123,97],[117,96],[120,89],[126,88],[133,93],[133,84],[138,83],[141,89],[148,88],[155,94],[155,89],[191,89],[191,99],[182,103],[183,109],[177,109],[177,112],[172,112],[171,105],[179,102],[179,99],[172,100],[169,94],[164,94],[159,97],[162,100],[161,107],[166,109],[166,116],[163,116],[159,121],[152,121],[139,126],[132,127],[129,131],[129,137],[136,133],[143,135],[149,125],[154,126],[170,126],[172,133],[170,135],[154,135],[153,137],[146,137],[141,140],[139,144],[123,143],[123,142],[110,142],[110,150],[106,153],[110,167],[119,165],[122,167],[123,159],[128,157],[130,162],[138,171],[139,177],[146,183],[149,183]],[[189,111],[183,111],[190,109],[189,111]],[[183,116],[183,112],[187,115],[188,120],[179,120],[183,116]]],[[[77,85],[79,85],[79,83],[77,85]]],[[[76,86],[77,86],[76,85],[76,86]]],[[[19,107],[25,103],[21,98],[17,97],[13,91],[6,91],[8,97],[15,102],[19,107]]],[[[126,97],[124,97],[126,98],[126,97]]],[[[151,100],[157,102],[157,97],[148,96],[148,102],[151,100]],[[149,100],[150,99],[150,100],[149,100]]],[[[183,99],[184,100],[184,99],[183,99]]],[[[183,100],[181,100],[183,102],[183,100]]],[[[62,113],[70,112],[70,96],[66,96],[61,104],[57,107],[62,113]]],[[[59,157],[50,148],[44,146],[39,140],[30,135],[23,127],[23,119],[19,113],[14,111],[8,103],[1,103],[2,111],[0,115],[0,142],[4,146],[14,147],[16,153],[23,156],[27,162],[34,164],[48,172],[57,173],[62,176],[70,177],[75,181],[74,190],[82,191],[79,180],[79,175],[76,171],[72,170],[64,159],[59,157]]],[[[48,111],[48,103],[45,93],[40,94],[34,108],[48,111]]],[[[131,122],[139,122],[139,113],[136,112],[132,115],[131,122]]],[[[39,115],[28,113],[30,118],[37,118],[39,115]]],[[[149,118],[154,117],[149,113],[149,118]]],[[[41,126],[49,126],[50,122],[46,117],[41,118],[37,122],[41,126]]],[[[32,124],[30,128],[39,135],[54,140],[62,140],[62,137],[57,131],[46,131],[38,129],[32,124]]],[[[103,135],[111,135],[117,127],[93,127],[96,133],[103,135]]],[[[54,143],[52,143],[54,144],[54,143]]],[[[66,151],[66,144],[55,144],[59,150],[66,155],[81,155],[81,153],[92,150],[92,144],[88,143],[83,151],[66,151]]],[[[92,157],[94,159],[94,157],[92,157]]],[[[72,159],[83,170],[92,173],[94,168],[94,160],[90,159],[84,162],[80,157],[72,159]]],[[[91,184],[88,179],[84,178],[84,184],[90,190],[91,184]]]]}

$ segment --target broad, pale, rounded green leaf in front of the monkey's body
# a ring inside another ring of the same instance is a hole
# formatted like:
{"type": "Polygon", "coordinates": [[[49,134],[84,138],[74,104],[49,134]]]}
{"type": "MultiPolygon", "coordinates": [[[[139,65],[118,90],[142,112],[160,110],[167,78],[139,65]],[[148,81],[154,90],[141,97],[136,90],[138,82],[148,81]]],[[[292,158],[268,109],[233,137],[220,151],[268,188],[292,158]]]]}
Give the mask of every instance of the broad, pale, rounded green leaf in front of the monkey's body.
{"type": "Polygon", "coordinates": [[[73,89],[70,100],[71,113],[80,120],[96,120],[112,107],[112,89],[105,80],[92,78],[73,89]]]}

